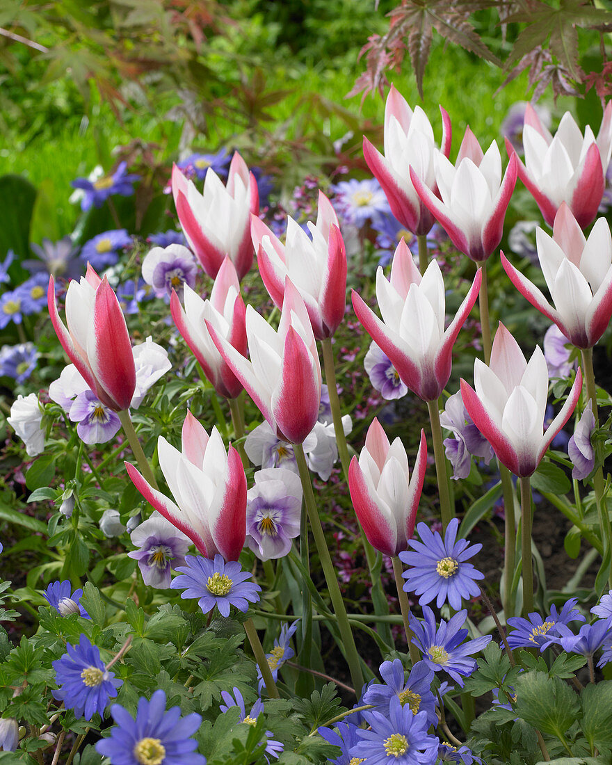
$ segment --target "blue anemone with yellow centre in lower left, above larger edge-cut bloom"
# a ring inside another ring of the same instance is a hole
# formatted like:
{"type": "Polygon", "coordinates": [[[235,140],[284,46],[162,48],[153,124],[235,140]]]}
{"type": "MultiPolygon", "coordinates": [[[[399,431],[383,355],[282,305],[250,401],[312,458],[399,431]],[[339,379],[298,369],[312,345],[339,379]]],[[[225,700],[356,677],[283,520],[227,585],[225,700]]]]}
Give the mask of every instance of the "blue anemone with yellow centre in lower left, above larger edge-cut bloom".
{"type": "Polygon", "coordinates": [[[72,709],[77,718],[84,715],[91,720],[94,712],[102,716],[109,698],[117,695],[123,681],[106,669],[99,648],[85,635],[81,635],[76,646],[68,644],[66,649],[61,659],[52,662],[55,682],[61,686],[51,692],[53,697],[72,709]]]}

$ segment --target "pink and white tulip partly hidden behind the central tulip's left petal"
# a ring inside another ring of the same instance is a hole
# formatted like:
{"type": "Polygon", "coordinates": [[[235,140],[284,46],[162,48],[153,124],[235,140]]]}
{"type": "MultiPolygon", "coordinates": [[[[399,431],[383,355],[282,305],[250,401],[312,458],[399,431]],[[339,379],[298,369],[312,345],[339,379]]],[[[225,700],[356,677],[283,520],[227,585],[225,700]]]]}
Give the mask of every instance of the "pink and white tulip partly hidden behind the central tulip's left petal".
{"type": "Polygon", "coordinates": [[[202,300],[187,284],[183,288],[184,308],[176,292],[172,292],[170,310],[174,324],[216,392],[226,399],[235,399],[243,385],[216,350],[207,328],[210,321],[238,353],[246,356],[246,308],[233,262],[228,257],[223,260],[210,300],[202,300]]]}

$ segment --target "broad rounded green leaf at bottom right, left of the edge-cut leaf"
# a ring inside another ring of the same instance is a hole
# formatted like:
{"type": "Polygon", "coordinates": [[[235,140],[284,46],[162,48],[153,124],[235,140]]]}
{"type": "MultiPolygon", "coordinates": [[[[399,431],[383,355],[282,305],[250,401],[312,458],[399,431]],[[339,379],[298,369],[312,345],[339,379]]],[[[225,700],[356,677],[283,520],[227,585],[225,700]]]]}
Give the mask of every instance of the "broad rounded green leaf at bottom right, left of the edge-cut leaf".
{"type": "Polygon", "coordinates": [[[560,741],[578,718],[580,704],[575,692],[547,672],[524,672],[514,682],[516,714],[542,733],[560,741]]]}

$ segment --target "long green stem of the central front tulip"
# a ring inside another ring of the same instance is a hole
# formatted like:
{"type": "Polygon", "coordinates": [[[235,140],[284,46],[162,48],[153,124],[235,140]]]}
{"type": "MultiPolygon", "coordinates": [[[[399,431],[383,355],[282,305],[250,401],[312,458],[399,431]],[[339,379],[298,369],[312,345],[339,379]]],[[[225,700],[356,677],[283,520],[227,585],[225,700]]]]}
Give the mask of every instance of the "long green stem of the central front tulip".
{"type": "Polygon", "coordinates": [[[331,603],[334,607],[334,612],[338,620],[338,628],[340,629],[340,636],[342,638],[343,649],[347,657],[350,676],[353,680],[353,688],[355,688],[355,691],[359,696],[361,689],[363,688],[363,674],[361,672],[360,658],[359,654],[357,653],[357,647],[355,645],[353,633],[350,630],[350,624],[347,617],[347,609],[344,607],[342,594],[340,594],[337,573],[334,569],[334,564],[331,562],[330,551],[327,547],[327,541],[325,539],[323,529],[321,528],[321,519],[319,518],[317,504],[314,500],[314,491],[312,489],[311,477],[308,473],[306,457],[304,456],[304,448],[301,444],[294,444],[293,450],[295,453],[295,459],[298,462],[298,469],[300,471],[301,485],[302,489],[304,490],[304,503],[306,504],[308,519],[311,523],[314,542],[317,545],[317,552],[321,560],[321,567],[323,568],[325,581],[327,583],[327,589],[330,593],[331,603]]]}

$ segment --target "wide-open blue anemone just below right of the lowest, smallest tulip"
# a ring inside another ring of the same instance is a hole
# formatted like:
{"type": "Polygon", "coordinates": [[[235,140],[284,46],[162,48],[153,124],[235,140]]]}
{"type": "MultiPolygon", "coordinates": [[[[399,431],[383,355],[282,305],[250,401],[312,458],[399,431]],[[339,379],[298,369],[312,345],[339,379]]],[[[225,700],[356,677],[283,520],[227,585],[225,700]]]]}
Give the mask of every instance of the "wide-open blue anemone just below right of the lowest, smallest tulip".
{"type": "Polygon", "coordinates": [[[466,539],[457,539],[459,519],[454,518],[448,524],[444,542],[438,532],[431,532],[426,523],[416,527],[421,542],[409,539],[412,551],[400,552],[399,559],[411,566],[402,574],[406,582],[404,590],[420,595],[418,603],[422,606],[436,598],[436,606],[448,603],[458,610],[463,605],[462,598],[468,599],[480,592],[477,579],[484,575],[471,563],[467,563],[483,545],[470,545],[466,539]]]}

